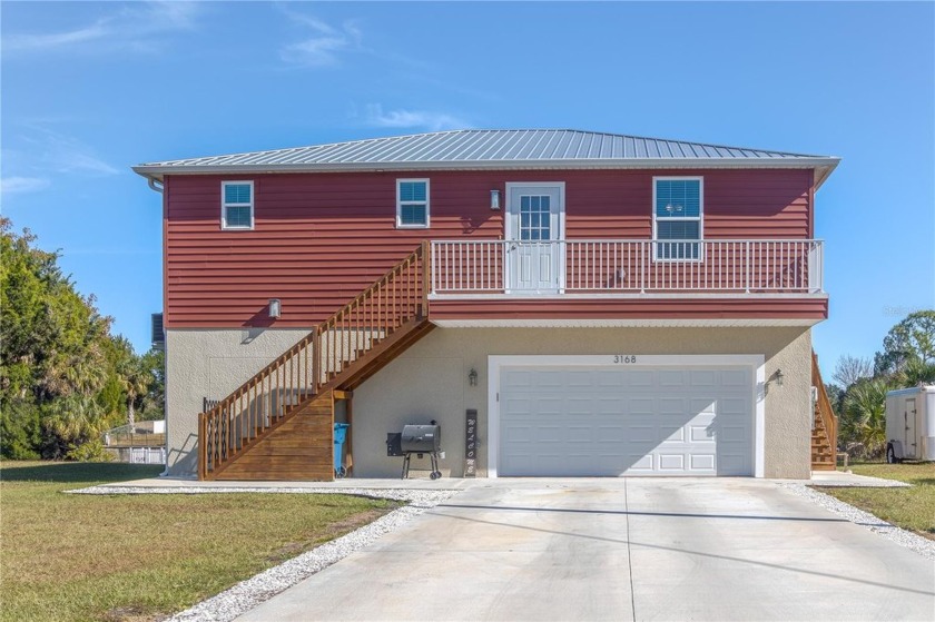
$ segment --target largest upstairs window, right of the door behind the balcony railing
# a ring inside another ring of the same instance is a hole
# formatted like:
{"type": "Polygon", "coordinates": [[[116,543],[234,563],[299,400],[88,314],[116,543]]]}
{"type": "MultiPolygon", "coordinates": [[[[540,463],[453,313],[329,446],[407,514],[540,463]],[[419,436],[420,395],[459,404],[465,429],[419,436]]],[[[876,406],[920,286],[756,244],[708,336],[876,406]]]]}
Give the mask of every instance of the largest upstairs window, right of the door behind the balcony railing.
{"type": "Polygon", "coordinates": [[[652,257],[701,259],[703,188],[700,177],[652,178],[652,257]]]}

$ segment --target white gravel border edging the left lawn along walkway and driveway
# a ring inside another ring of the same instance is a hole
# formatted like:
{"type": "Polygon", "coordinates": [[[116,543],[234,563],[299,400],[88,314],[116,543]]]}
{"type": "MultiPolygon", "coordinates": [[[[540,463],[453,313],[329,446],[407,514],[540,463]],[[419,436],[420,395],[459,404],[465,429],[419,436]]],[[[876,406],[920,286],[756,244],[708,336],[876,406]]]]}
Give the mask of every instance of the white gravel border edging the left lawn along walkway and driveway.
{"type": "Polygon", "coordinates": [[[338,539],[326,542],[311,551],[293,557],[277,566],[237,583],[233,588],[211,596],[195,606],[176,613],[169,621],[185,622],[228,622],[258,604],[268,601],[279,592],[308,579],[313,574],[341,561],[351,553],[375,542],[380,536],[398,529],[426,510],[451,498],[462,491],[426,490],[373,490],[373,488],[252,488],[252,487],[134,487],[134,486],[91,486],[71,494],[217,494],[217,493],[273,493],[273,494],[346,494],[371,498],[404,501],[409,505],[384,514],[376,521],[362,526],[338,539]]]}

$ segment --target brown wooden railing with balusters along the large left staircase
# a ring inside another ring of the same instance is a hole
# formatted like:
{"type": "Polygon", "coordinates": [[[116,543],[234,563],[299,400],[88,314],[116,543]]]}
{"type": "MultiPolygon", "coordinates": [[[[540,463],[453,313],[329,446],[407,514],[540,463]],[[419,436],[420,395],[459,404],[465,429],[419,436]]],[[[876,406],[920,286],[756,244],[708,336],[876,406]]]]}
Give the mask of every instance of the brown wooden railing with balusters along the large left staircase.
{"type": "Polygon", "coordinates": [[[412,342],[404,333],[427,325],[430,255],[429,243],[423,241],[230,395],[200,413],[198,478],[214,478],[218,470],[323,391],[360,381],[368,357],[385,356],[388,343],[412,342]]]}

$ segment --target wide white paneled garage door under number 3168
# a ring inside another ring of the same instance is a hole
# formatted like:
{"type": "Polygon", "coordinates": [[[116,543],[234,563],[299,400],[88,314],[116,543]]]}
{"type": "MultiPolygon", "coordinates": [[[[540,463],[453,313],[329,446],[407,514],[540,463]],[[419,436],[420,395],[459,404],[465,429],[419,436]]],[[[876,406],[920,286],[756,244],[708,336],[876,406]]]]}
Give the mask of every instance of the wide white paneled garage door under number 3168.
{"type": "Polygon", "coordinates": [[[752,475],[749,367],[502,367],[503,476],[752,475]]]}

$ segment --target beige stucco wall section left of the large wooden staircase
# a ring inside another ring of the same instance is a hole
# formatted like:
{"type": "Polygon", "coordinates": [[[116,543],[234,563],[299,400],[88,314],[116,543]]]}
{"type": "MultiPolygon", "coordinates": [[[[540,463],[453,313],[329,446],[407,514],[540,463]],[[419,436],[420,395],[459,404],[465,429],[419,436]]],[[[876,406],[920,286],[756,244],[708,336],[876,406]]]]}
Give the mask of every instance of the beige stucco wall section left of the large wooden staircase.
{"type": "Polygon", "coordinates": [[[308,334],[308,329],[169,329],[166,332],[166,443],[169,475],[195,476],[198,413],[308,334]]]}

